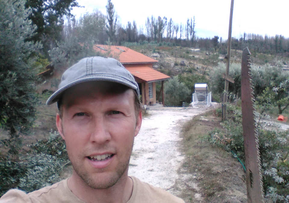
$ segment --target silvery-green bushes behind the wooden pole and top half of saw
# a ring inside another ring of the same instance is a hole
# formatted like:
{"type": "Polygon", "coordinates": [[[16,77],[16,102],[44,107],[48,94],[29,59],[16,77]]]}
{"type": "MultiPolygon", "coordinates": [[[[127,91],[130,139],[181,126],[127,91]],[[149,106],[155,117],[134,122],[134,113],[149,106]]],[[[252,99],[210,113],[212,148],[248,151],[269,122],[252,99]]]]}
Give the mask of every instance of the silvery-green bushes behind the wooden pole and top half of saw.
{"type": "MultiPolygon", "coordinates": [[[[258,97],[264,94],[270,95],[270,104],[278,108],[281,114],[289,106],[289,73],[282,70],[283,64],[277,61],[275,65],[265,64],[257,66],[252,64],[252,85],[254,95],[258,101],[258,97]],[[266,91],[266,92],[264,92],[266,91]]],[[[217,67],[210,73],[210,87],[216,95],[223,93],[225,82],[222,74],[225,73],[226,64],[219,63],[217,67]]],[[[230,65],[229,75],[234,78],[234,83],[229,83],[228,95],[231,98],[241,97],[241,64],[232,63],[230,65]]]]}

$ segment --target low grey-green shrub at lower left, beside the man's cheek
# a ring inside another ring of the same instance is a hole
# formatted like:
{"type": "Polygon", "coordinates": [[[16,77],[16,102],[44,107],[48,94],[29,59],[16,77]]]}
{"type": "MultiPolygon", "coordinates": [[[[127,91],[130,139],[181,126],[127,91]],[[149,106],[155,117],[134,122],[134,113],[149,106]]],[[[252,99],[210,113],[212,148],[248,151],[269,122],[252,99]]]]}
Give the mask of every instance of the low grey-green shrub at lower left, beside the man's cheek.
{"type": "Polygon", "coordinates": [[[36,142],[31,148],[30,155],[21,161],[0,161],[0,196],[11,188],[31,192],[60,180],[68,156],[59,134],[51,131],[48,140],[36,142]]]}

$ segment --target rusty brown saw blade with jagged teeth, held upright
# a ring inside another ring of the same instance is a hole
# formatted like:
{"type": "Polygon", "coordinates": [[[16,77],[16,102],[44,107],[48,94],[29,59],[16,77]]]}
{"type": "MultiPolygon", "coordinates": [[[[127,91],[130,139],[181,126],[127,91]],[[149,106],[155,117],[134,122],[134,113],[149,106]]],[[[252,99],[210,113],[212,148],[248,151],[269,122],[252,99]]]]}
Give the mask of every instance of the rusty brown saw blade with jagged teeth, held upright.
{"type": "Polygon", "coordinates": [[[246,47],[241,64],[241,100],[244,151],[246,165],[247,197],[249,203],[264,202],[260,166],[259,139],[256,131],[254,96],[250,65],[250,51],[246,47]]]}

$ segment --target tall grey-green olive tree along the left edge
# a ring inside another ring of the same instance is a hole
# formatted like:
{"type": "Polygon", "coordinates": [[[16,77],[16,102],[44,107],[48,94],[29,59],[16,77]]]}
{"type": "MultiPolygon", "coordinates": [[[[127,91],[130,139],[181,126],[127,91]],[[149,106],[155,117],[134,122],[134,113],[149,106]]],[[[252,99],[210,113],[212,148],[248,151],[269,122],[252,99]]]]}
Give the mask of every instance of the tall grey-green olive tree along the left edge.
{"type": "Polygon", "coordinates": [[[31,11],[24,5],[24,0],[0,1],[0,126],[10,134],[1,142],[14,154],[21,141],[19,133],[31,126],[35,115],[32,53],[41,48],[37,42],[25,40],[36,27],[28,20],[31,11]]]}

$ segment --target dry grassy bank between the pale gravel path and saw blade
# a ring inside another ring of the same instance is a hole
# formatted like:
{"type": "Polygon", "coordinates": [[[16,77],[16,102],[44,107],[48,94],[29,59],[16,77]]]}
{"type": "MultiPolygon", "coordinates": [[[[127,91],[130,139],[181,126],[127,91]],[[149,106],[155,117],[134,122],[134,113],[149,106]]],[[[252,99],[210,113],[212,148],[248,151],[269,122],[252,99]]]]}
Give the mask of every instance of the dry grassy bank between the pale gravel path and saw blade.
{"type": "MultiPolygon", "coordinates": [[[[244,172],[231,154],[225,150],[212,146],[208,141],[208,133],[213,129],[222,129],[220,117],[215,116],[215,110],[208,111],[189,120],[182,127],[183,152],[185,161],[182,167],[185,171],[195,175],[204,202],[224,202],[224,199],[236,198],[228,189],[246,191],[244,172]],[[238,173],[236,175],[236,173],[238,173]],[[238,185],[234,185],[238,183],[238,185]]],[[[188,186],[187,192],[181,195],[185,201],[195,202],[195,190],[188,186]]],[[[244,198],[246,195],[238,197],[244,198]]],[[[227,201],[227,202],[230,202],[227,201]]]]}

